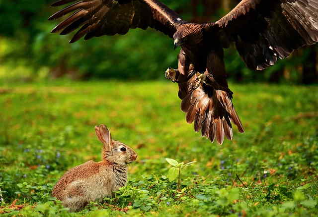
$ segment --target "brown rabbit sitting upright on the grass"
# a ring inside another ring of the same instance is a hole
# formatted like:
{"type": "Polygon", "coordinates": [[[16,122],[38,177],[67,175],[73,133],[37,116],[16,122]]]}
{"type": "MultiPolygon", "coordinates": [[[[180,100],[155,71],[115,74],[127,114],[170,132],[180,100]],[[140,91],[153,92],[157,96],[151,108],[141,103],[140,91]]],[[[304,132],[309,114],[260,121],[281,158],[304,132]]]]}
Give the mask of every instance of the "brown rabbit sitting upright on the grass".
{"type": "Polygon", "coordinates": [[[126,185],[127,163],[137,159],[134,150],[112,140],[105,125],[95,126],[95,132],[103,143],[102,161],[88,161],[70,169],[52,191],[52,196],[61,200],[70,211],[79,211],[90,201],[101,202],[104,197],[111,197],[113,191],[126,185]]]}

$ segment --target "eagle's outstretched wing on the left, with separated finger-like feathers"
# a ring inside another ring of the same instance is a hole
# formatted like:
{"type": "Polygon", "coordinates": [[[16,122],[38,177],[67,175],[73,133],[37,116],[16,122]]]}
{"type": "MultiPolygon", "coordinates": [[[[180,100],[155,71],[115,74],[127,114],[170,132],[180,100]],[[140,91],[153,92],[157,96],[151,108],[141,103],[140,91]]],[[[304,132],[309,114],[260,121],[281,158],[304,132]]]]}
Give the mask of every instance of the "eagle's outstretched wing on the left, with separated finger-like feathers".
{"type": "MultiPolygon", "coordinates": [[[[59,0],[52,6],[74,1],[59,0]]],[[[56,12],[49,20],[71,12],[74,13],[52,30],[63,30],[60,34],[66,35],[81,27],[70,43],[83,36],[88,40],[102,35],[124,35],[129,29],[137,27],[153,27],[172,37],[177,26],[185,22],[176,12],[157,0],[80,0],[56,12]]]]}

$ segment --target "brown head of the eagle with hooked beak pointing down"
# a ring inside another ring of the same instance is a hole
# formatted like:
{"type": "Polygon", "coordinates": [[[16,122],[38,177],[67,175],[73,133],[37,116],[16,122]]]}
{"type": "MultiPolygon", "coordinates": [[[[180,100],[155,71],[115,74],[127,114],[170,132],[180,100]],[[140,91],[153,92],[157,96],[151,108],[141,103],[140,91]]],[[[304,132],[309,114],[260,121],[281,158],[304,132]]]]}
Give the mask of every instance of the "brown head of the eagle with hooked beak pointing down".
{"type": "Polygon", "coordinates": [[[176,49],[178,46],[185,44],[198,44],[203,39],[202,24],[186,23],[177,28],[173,35],[173,47],[176,49]]]}

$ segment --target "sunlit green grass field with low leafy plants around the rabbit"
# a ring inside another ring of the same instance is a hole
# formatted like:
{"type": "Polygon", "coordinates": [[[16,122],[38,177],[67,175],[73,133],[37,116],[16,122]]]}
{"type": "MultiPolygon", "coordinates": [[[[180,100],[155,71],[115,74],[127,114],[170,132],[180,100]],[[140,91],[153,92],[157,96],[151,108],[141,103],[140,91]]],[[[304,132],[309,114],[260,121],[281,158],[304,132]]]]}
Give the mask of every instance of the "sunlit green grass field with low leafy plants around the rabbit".
{"type": "Polygon", "coordinates": [[[0,88],[0,216],[318,216],[318,87],[231,85],[245,133],[210,143],[168,82],[57,81],[0,88]],[[100,161],[94,126],[136,150],[116,198],[69,213],[50,196],[66,170],[100,161]],[[196,161],[169,181],[165,158],[196,161]],[[239,178],[238,178],[239,177],[239,178]]]}

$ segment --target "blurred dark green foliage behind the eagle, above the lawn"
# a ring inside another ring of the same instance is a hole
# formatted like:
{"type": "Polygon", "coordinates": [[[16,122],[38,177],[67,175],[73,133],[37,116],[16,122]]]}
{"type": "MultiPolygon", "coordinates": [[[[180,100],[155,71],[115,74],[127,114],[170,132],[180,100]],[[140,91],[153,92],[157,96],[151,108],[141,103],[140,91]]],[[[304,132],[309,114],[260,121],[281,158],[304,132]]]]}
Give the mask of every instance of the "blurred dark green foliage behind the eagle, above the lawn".
{"type": "MultiPolygon", "coordinates": [[[[58,23],[47,18],[58,8],[54,0],[0,0],[1,81],[72,79],[164,79],[168,66],[176,66],[172,40],[153,29],[130,30],[125,36],[104,36],[68,44],[70,36],[51,34],[58,23]]],[[[184,19],[215,21],[239,0],[162,0],[184,19]]],[[[253,72],[234,47],[226,50],[229,78],[235,82],[317,83],[317,46],[303,48],[287,60],[253,72]]]]}

